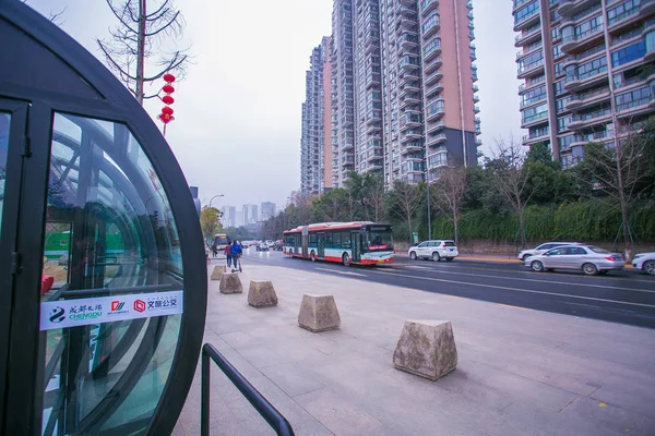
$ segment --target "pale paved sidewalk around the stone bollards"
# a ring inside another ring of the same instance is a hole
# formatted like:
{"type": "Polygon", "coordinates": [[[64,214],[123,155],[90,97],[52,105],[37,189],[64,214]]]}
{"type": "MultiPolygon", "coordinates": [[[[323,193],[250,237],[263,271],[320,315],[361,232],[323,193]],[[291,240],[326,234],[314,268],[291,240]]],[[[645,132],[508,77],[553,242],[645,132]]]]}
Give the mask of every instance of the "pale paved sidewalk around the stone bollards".
{"type": "MultiPolygon", "coordinates": [[[[302,262],[302,261],[297,261],[302,262]]],[[[655,331],[343,278],[251,265],[245,292],[210,282],[212,342],[297,435],[654,435],[655,331]],[[279,305],[247,304],[250,279],[279,305]],[[303,293],[333,294],[342,328],[297,325],[303,293]],[[437,382],[397,371],[405,319],[452,322],[457,370],[437,382]]],[[[212,434],[269,435],[217,368],[212,434]]],[[[200,371],[175,435],[200,429],[200,371]]]]}

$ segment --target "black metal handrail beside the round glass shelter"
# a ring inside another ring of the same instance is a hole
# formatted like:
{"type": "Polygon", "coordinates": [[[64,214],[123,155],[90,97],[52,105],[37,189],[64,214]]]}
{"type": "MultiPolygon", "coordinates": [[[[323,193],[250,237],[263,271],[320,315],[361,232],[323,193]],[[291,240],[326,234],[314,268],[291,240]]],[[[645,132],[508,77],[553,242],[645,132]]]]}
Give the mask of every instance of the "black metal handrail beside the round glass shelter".
{"type": "Polygon", "coordinates": [[[293,436],[294,429],[289,422],[262,396],[228,361],[212,346],[202,347],[202,376],[201,376],[201,421],[200,434],[210,435],[210,359],[223,371],[223,374],[239,389],[241,395],[252,404],[254,410],[266,420],[271,428],[278,435],[293,436]]]}

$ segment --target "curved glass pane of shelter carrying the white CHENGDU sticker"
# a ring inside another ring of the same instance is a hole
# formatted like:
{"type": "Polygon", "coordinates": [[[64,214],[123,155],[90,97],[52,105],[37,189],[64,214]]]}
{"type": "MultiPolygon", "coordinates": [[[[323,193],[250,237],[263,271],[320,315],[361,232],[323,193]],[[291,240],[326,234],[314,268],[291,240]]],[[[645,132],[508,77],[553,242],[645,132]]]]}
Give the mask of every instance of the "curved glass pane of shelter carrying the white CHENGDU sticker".
{"type": "Polygon", "coordinates": [[[41,312],[84,322],[41,332],[41,433],[139,433],[159,401],[181,318],[151,307],[182,289],[182,264],[168,198],[124,125],[55,116],[45,238],[51,279],[41,312]],[[133,294],[143,307],[126,303],[133,294]]]}

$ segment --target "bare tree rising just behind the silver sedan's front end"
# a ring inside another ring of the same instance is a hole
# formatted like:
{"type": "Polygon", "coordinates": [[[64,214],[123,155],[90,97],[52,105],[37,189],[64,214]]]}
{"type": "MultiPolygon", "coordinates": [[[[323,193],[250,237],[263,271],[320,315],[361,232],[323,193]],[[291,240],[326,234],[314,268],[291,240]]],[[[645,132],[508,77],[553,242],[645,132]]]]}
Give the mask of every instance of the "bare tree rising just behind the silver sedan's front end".
{"type": "Polygon", "coordinates": [[[497,140],[492,159],[486,165],[491,174],[493,187],[498,190],[504,201],[514,209],[519,217],[519,234],[521,247],[527,244],[525,235],[525,208],[527,207],[537,185],[528,183],[529,166],[525,162],[524,147],[513,136],[508,141],[497,140]]]}

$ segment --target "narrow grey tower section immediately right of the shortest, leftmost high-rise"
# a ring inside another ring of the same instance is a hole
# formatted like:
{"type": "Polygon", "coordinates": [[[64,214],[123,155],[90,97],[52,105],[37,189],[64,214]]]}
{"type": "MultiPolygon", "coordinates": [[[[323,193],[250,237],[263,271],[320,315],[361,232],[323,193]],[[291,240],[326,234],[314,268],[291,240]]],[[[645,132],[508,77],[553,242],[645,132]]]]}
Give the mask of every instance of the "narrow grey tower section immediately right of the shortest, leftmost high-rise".
{"type": "Polygon", "coordinates": [[[331,51],[332,185],[338,187],[355,170],[353,0],[334,0],[331,51]]]}

